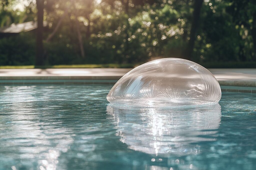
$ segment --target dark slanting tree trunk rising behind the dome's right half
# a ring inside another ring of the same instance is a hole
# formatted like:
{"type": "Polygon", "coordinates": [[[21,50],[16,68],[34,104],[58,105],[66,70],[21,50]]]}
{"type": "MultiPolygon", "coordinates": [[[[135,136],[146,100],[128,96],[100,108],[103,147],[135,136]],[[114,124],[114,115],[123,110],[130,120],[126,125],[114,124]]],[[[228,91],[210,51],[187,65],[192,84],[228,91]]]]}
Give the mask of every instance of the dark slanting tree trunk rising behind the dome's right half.
{"type": "Polygon", "coordinates": [[[199,25],[200,20],[200,11],[204,0],[195,0],[194,2],[194,12],[193,12],[193,21],[191,24],[191,30],[190,30],[190,39],[188,41],[188,45],[186,50],[184,51],[184,58],[191,60],[193,48],[195,45],[196,40],[196,32],[199,25]]]}

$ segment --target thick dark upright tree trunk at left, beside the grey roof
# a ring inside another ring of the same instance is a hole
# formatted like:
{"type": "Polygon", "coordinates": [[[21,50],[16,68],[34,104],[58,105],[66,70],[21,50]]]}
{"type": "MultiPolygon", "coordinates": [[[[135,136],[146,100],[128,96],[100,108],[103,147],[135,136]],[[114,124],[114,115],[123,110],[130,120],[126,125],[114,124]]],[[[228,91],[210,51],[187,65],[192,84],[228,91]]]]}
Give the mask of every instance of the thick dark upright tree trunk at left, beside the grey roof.
{"type": "Polygon", "coordinates": [[[43,47],[43,18],[44,18],[44,0],[36,0],[37,7],[37,30],[36,30],[36,66],[44,65],[44,47],[43,47]]]}

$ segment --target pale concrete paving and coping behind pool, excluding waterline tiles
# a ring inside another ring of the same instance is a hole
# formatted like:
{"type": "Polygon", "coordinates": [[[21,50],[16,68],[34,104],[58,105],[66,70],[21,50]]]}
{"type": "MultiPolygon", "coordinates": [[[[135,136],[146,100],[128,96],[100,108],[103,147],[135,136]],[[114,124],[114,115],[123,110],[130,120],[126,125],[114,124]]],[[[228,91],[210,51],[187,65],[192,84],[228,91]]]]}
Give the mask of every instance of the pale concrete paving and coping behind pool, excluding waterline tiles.
{"type": "MultiPolygon", "coordinates": [[[[4,80],[118,80],[131,69],[0,69],[4,80]]],[[[256,69],[209,69],[220,85],[256,87],[256,69]]],[[[14,82],[14,81],[13,81],[14,82]]]]}

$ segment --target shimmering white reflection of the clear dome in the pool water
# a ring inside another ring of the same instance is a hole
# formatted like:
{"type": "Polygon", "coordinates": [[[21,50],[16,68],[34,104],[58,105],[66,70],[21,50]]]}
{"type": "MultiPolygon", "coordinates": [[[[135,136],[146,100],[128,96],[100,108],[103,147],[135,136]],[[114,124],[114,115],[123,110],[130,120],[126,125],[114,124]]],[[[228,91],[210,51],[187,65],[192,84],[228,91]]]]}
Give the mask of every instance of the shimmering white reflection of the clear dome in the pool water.
{"type": "Polygon", "coordinates": [[[214,141],[220,125],[220,105],[167,110],[109,105],[116,135],[130,149],[148,154],[198,154],[200,144],[214,141]]]}

